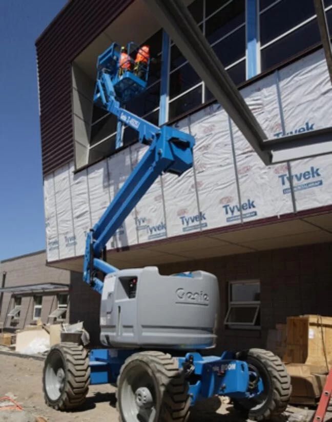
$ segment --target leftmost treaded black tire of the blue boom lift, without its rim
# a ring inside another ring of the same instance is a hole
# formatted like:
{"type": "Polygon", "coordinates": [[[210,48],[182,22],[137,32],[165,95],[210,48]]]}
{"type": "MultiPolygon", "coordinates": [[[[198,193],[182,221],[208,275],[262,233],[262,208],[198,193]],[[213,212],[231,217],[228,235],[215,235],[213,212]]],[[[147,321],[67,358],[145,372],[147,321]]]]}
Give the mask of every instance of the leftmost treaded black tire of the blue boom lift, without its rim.
{"type": "Polygon", "coordinates": [[[47,354],[43,370],[43,392],[45,403],[56,410],[70,410],[81,406],[86,399],[90,384],[90,367],[87,350],[76,343],[61,343],[53,346],[47,354]],[[52,398],[46,386],[46,371],[52,359],[62,361],[65,373],[59,397],[52,398]]]}

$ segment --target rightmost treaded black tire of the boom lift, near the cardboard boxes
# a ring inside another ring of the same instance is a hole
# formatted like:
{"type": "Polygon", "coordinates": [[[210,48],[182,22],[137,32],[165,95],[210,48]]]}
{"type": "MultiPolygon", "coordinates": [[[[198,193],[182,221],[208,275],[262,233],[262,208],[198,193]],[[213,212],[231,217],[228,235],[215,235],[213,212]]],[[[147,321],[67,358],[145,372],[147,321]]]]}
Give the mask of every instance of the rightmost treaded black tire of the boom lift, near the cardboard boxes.
{"type": "Polygon", "coordinates": [[[286,410],[292,393],[291,377],[285,365],[274,353],[264,349],[250,349],[237,353],[237,359],[257,368],[262,377],[264,393],[262,402],[257,398],[233,399],[236,410],[253,420],[268,420],[286,410]]]}

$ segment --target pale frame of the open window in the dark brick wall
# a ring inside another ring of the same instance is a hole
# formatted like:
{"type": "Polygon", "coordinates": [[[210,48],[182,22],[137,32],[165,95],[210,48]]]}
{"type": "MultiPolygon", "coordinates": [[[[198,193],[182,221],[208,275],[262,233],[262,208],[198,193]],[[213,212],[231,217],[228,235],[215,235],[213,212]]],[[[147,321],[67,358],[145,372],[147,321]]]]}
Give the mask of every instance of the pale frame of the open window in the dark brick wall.
{"type": "Polygon", "coordinates": [[[260,300],[232,300],[232,286],[234,284],[250,284],[250,283],[258,283],[259,284],[259,292],[261,288],[261,282],[259,279],[247,279],[247,280],[231,280],[228,283],[228,307],[226,316],[224,319],[224,325],[231,329],[255,329],[260,330],[261,325],[255,325],[257,318],[260,314],[261,310],[261,301],[260,300]],[[252,322],[230,322],[228,321],[232,309],[234,308],[256,308],[254,318],[252,322]]]}

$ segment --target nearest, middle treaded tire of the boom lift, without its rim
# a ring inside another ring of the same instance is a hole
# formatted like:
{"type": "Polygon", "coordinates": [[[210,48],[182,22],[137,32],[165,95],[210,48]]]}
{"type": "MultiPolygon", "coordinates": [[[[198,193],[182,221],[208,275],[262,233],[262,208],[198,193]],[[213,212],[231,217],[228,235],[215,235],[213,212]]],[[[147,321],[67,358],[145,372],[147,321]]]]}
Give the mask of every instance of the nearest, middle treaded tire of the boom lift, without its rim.
{"type": "Polygon", "coordinates": [[[116,392],[119,421],[128,422],[122,411],[122,407],[126,406],[122,403],[122,388],[130,371],[137,368],[147,371],[154,384],[157,405],[153,422],[186,422],[190,413],[189,384],[178,367],[177,359],[159,351],[134,353],[122,365],[116,392]]]}

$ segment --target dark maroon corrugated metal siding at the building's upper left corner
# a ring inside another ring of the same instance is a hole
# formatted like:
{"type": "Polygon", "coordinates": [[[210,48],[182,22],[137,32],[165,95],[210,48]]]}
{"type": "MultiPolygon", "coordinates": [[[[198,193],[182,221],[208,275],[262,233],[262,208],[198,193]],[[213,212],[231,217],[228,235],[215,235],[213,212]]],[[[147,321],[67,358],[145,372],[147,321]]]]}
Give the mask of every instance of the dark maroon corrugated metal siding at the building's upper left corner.
{"type": "Polygon", "coordinates": [[[72,0],[36,40],[43,173],[74,157],[71,62],[133,0],[72,0]]]}

